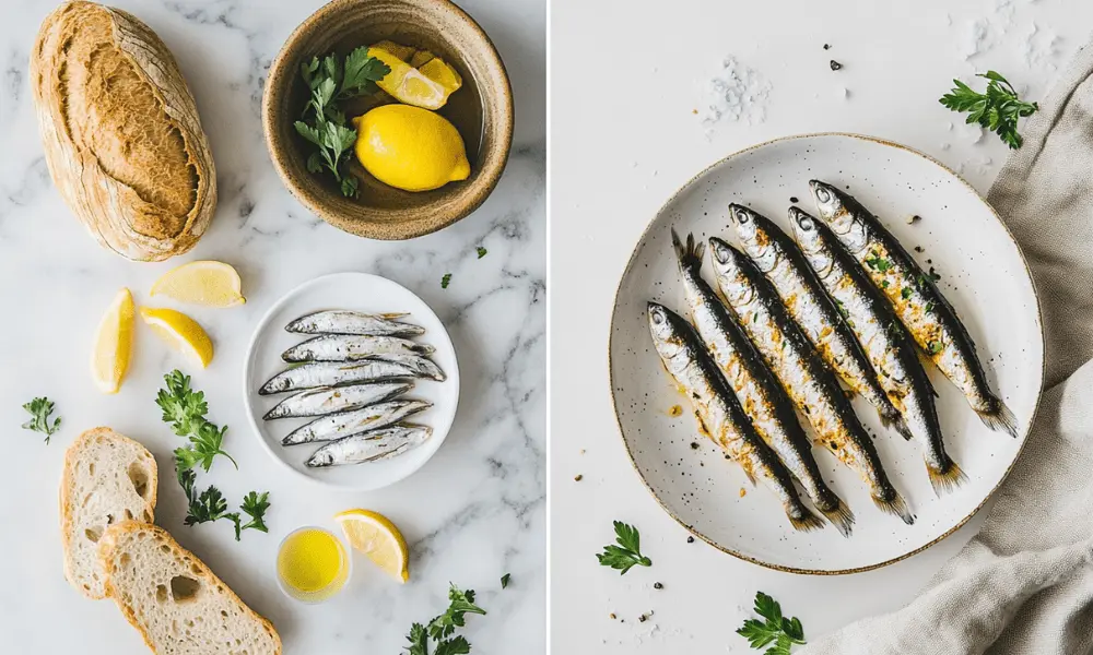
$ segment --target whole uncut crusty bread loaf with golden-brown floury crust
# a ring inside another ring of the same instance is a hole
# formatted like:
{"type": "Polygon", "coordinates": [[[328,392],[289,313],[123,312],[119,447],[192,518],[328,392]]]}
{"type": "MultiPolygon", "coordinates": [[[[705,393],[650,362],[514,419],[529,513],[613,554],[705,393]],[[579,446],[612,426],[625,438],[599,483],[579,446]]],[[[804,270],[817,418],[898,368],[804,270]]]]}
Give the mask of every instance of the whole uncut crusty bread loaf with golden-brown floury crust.
{"type": "Polygon", "coordinates": [[[197,243],[216,171],[193,96],[148,25],[61,4],[38,31],[31,86],[54,182],[103,246],[161,261],[197,243]]]}

